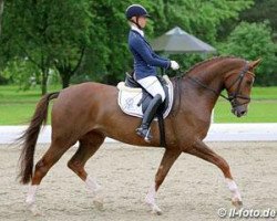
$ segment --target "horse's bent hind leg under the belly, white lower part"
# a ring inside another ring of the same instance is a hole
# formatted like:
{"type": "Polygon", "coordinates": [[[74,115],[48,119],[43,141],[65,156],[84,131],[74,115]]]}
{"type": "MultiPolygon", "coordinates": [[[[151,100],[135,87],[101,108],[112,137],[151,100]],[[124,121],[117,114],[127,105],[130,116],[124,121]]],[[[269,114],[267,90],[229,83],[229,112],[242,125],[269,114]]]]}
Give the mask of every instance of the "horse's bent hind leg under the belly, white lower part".
{"type": "Polygon", "coordinates": [[[90,131],[85,134],[79,141],[80,146],[73,157],[69,160],[68,167],[73,170],[83,181],[86,188],[93,196],[93,203],[98,209],[103,208],[103,199],[100,196],[100,186],[95,178],[90,176],[84,170],[85,162],[98,151],[99,147],[103,144],[105,136],[90,131]]]}

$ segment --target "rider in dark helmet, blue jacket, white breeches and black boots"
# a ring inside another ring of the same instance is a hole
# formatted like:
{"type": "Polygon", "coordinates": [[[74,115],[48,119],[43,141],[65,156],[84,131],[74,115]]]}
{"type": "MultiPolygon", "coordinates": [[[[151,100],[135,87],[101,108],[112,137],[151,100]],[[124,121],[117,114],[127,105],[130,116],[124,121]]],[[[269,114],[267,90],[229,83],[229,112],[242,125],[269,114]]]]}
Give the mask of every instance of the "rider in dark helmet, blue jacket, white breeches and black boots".
{"type": "Polygon", "coordinates": [[[179,65],[175,61],[170,61],[155,54],[145,40],[143,28],[145,28],[147,18],[150,17],[145,8],[140,4],[132,4],[126,9],[125,15],[131,25],[129,49],[134,56],[134,78],[153,96],[144,113],[142,125],[136,129],[138,136],[143,137],[145,141],[150,141],[152,137],[150,125],[158,106],[165,99],[163,86],[156,77],[156,66],[178,70],[179,65]]]}

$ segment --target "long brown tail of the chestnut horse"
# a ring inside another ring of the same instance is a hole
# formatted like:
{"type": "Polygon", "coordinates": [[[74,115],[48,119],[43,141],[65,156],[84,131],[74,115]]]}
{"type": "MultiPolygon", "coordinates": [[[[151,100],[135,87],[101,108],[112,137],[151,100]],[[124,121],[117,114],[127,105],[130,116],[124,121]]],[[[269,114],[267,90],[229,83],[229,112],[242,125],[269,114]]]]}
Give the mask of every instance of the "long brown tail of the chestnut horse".
{"type": "Polygon", "coordinates": [[[50,99],[57,98],[60,92],[45,94],[37,104],[35,112],[32,116],[29,127],[23,131],[22,136],[18,138],[18,141],[22,140],[23,148],[19,158],[20,182],[27,185],[32,178],[33,171],[33,155],[37,140],[39,137],[40,128],[47,124],[48,106],[50,99]]]}

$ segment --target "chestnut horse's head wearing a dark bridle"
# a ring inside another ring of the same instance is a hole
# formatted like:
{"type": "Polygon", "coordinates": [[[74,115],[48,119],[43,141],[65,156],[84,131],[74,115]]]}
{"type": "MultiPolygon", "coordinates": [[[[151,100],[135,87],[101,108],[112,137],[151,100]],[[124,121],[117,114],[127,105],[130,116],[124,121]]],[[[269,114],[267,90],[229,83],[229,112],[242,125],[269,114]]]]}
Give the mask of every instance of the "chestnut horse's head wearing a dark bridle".
{"type": "Polygon", "coordinates": [[[259,62],[260,60],[247,62],[243,67],[234,70],[226,75],[224,85],[232,104],[232,113],[237,117],[242,117],[247,113],[255,80],[254,69],[259,62]]]}

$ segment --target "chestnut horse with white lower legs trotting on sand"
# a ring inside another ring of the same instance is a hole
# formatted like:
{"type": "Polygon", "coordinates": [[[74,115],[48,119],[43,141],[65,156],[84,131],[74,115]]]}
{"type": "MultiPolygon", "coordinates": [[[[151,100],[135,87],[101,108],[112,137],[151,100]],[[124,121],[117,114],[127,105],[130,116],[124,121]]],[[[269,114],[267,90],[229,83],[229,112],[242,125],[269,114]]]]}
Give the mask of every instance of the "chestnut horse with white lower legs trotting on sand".
{"type": "MultiPolygon", "coordinates": [[[[206,137],[211,114],[218,96],[232,104],[232,112],[240,117],[247,113],[250,90],[254,83],[254,67],[258,61],[247,62],[237,57],[214,57],[196,64],[185,75],[172,78],[175,101],[172,113],[165,119],[166,147],[155,181],[145,201],[153,212],[160,214],[155,194],[174,161],[182,152],[187,152],[216,165],[224,173],[235,206],[242,204],[242,197],[233,179],[226,160],[207,147],[206,137]],[[227,96],[222,95],[223,90],[227,96]]],[[[105,137],[136,146],[160,147],[158,126],[153,122],[151,144],[135,134],[141,119],[127,116],[117,105],[119,91],[115,86],[83,83],[61,92],[44,95],[37,105],[29,127],[22,135],[23,148],[20,156],[20,177],[22,183],[31,180],[27,203],[34,210],[37,189],[49,169],[76,141],[80,146],[69,160],[73,170],[93,193],[93,202],[102,206],[101,188],[93,176],[84,169],[85,162],[96,152],[105,137]],[[40,128],[47,122],[50,99],[57,98],[51,115],[51,145],[38,161],[33,171],[33,155],[40,128]]]]}

